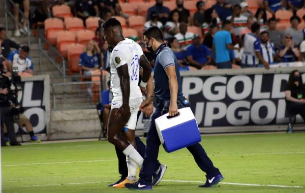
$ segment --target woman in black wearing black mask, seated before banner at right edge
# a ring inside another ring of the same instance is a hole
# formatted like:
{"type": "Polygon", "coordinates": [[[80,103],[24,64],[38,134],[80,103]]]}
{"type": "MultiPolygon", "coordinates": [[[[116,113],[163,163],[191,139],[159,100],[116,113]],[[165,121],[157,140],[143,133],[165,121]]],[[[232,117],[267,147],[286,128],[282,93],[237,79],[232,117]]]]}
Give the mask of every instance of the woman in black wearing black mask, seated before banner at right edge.
{"type": "Polygon", "coordinates": [[[285,88],[286,109],[290,114],[300,114],[305,120],[305,87],[298,70],[293,70],[285,88]]]}

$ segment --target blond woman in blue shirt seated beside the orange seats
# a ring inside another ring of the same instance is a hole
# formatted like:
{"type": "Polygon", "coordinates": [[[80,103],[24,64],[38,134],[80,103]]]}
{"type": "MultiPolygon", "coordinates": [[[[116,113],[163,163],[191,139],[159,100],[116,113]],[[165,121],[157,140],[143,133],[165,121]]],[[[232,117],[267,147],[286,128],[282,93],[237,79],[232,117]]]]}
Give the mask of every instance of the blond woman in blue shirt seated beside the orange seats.
{"type": "Polygon", "coordinates": [[[95,41],[88,42],[85,52],[79,57],[79,66],[83,75],[89,76],[99,68],[99,46],[95,41]]]}

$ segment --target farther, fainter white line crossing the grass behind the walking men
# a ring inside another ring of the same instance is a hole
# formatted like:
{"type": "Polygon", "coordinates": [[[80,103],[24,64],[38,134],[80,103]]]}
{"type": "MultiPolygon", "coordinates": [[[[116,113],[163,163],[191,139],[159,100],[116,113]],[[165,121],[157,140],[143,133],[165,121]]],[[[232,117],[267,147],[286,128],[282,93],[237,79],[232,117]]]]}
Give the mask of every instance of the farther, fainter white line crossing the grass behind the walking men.
{"type": "MultiPolygon", "coordinates": [[[[305,152],[274,152],[274,153],[248,153],[248,154],[237,154],[237,155],[273,155],[273,154],[302,154],[305,152]]],[[[188,156],[168,156],[166,159],[170,158],[184,158],[184,157],[191,157],[192,155],[188,156]]],[[[161,157],[162,158],[162,157],[161,157]]],[[[75,162],[51,162],[51,163],[21,163],[21,164],[12,164],[12,165],[2,165],[3,167],[9,166],[29,166],[29,165],[47,165],[47,164],[66,164],[66,163],[86,163],[86,162],[108,162],[108,161],[116,161],[117,159],[104,159],[104,160],[88,160],[88,161],[75,161],[75,162]]]]}

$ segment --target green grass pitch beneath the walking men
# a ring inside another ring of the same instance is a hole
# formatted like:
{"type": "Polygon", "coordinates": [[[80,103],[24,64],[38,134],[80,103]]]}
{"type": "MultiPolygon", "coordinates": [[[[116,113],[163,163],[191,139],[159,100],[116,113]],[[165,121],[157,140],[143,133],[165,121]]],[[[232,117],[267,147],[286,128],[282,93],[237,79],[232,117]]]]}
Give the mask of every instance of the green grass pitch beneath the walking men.
{"type": "MultiPolygon", "coordinates": [[[[206,135],[201,144],[224,175],[223,183],[198,188],[203,183],[196,181],[205,181],[205,174],[191,154],[186,149],[169,154],[160,147],[159,160],[168,169],[153,192],[305,192],[304,133],[206,135]]],[[[108,141],[5,147],[1,164],[2,192],[131,192],[107,187],[119,178],[108,141]]]]}

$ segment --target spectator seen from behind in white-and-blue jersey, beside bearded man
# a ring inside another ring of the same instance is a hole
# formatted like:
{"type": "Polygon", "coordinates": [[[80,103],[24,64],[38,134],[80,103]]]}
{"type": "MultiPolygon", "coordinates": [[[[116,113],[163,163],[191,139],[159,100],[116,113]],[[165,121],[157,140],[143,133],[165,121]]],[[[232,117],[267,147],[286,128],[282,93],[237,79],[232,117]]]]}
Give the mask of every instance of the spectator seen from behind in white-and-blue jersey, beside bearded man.
{"type": "Polygon", "coordinates": [[[269,64],[261,55],[260,45],[260,24],[253,23],[251,26],[251,34],[245,35],[244,52],[242,54],[242,68],[254,68],[259,63],[263,64],[266,69],[269,69],[269,64]]]}

